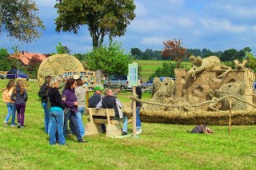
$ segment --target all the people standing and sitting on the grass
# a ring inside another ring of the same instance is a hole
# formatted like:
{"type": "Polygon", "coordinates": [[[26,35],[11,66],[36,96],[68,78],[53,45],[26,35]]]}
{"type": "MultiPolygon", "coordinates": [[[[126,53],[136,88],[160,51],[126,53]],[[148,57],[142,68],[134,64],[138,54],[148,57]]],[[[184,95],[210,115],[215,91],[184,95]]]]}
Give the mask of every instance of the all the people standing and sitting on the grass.
{"type": "MultiPolygon", "coordinates": [[[[114,109],[115,117],[113,119],[122,119],[122,135],[127,135],[128,119],[122,113],[122,103],[116,97],[120,89],[113,92],[107,88],[104,90],[105,96],[102,96],[102,89],[100,86],[94,87],[94,95],[89,98],[90,108],[104,108],[114,109]]],[[[142,97],[142,90],[140,86],[136,88],[138,98],[142,97]]],[[[83,140],[86,135],[85,128],[82,122],[82,115],[85,113],[86,108],[86,89],[83,87],[83,81],[78,78],[63,78],[59,81],[57,78],[46,76],[44,84],[40,87],[38,96],[42,98],[42,108],[45,113],[44,131],[50,136],[50,144],[66,144],[65,137],[72,133],[80,143],[86,143],[83,140]],[[69,123],[68,123],[69,122],[69,123]],[[70,131],[68,129],[70,126],[70,131]]],[[[6,89],[2,93],[2,100],[6,103],[8,113],[4,121],[4,126],[12,116],[11,126],[15,127],[15,114],[17,111],[18,128],[24,128],[25,109],[28,95],[24,88],[22,80],[15,83],[10,80],[6,85],[6,89]]],[[[136,102],[137,121],[136,128],[137,134],[142,133],[141,121],[139,118],[139,110],[141,103],[136,102]]],[[[103,132],[106,132],[106,125],[102,124],[103,132]]]]}

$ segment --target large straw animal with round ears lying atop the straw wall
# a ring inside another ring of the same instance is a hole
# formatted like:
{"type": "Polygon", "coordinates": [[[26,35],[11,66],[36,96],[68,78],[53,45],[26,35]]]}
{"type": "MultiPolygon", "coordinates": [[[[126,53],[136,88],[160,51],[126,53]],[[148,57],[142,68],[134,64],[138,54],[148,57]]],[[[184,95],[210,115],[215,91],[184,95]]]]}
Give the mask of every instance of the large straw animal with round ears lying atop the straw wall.
{"type": "Polygon", "coordinates": [[[190,61],[194,64],[192,68],[187,72],[188,76],[192,75],[194,80],[196,79],[195,74],[201,73],[206,69],[228,69],[226,72],[222,73],[222,75],[218,76],[218,78],[223,77],[228,73],[231,68],[226,65],[221,65],[221,61],[216,56],[205,57],[194,57],[194,55],[190,56],[190,61]]]}

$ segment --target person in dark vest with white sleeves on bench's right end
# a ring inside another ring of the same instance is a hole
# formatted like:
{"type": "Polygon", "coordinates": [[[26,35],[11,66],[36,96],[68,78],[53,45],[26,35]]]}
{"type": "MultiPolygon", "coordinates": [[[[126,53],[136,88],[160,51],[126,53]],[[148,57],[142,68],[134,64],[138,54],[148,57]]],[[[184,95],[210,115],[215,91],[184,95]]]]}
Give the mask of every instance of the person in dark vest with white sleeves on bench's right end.
{"type": "Polygon", "coordinates": [[[105,97],[103,97],[98,105],[96,105],[96,108],[114,109],[115,117],[113,119],[122,119],[122,135],[127,135],[128,119],[126,115],[122,115],[122,113],[118,112],[118,107],[120,109],[122,108],[121,101],[119,101],[118,98],[114,96],[114,92],[110,88],[105,89],[104,93],[105,97]]]}

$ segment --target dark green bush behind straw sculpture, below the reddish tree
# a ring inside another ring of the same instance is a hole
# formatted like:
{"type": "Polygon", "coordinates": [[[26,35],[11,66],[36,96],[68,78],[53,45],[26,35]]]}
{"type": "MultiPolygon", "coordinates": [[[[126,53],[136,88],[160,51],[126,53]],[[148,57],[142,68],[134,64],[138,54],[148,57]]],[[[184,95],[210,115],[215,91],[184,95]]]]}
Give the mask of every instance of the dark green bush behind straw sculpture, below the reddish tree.
{"type": "MultiPolygon", "coordinates": [[[[175,63],[162,63],[162,67],[159,67],[155,70],[154,73],[150,74],[149,79],[154,77],[175,77],[174,69],[176,69],[175,63]]],[[[183,65],[180,66],[180,68],[184,68],[183,65]]]]}

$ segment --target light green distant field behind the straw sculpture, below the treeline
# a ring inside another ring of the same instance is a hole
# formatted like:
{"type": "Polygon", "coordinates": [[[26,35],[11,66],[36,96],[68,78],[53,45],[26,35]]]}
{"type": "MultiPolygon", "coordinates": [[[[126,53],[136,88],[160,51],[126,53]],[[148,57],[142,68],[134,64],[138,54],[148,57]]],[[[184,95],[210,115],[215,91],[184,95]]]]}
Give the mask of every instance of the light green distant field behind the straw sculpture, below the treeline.
{"type": "MultiPolygon", "coordinates": [[[[169,63],[170,61],[152,61],[152,60],[136,60],[135,62],[138,63],[138,66],[142,67],[142,81],[148,81],[150,74],[154,73],[158,67],[162,67],[163,63],[169,63]]],[[[174,61],[171,61],[174,63],[174,61]]],[[[182,65],[186,65],[186,68],[189,69],[191,67],[190,61],[182,61],[182,65]]]]}

